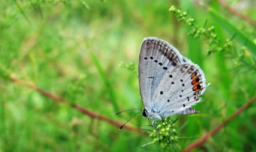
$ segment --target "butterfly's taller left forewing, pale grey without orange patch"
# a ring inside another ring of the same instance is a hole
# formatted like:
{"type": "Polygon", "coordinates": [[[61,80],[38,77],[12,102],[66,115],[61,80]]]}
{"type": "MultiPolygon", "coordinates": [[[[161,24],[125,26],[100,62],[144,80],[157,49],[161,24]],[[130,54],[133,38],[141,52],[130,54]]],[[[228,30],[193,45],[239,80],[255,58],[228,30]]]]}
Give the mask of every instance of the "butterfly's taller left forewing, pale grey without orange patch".
{"type": "Polygon", "coordinates": [[[138,76],[142,101],[148,110],[162,78],[181,65],[182,55],[169,43],[158,38],[145,38],[142,42],[138,76]]]}

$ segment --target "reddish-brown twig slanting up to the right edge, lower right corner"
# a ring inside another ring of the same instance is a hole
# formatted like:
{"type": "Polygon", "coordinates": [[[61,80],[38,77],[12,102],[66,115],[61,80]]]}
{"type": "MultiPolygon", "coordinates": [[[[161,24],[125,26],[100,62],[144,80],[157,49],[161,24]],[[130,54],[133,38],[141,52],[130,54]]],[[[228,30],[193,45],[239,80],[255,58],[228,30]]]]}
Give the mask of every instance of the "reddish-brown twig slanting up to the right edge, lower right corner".
{"type": "Polygon", "coordinates": [[[216,134],[218,130],[222,129],[223,126],[226,126],[231,120],[236,118],[238,114],[242,113],[243,110],[246,110],[247,107],[249,107],[252,103],[256,101],[256,96],[254,98],[251,98],[248,102],[246,102],[240,109],[238,109],[233,115],[230,116],[230,118],[226,119],[226,121],[222,122],[221,125],[217,126],[214,130],[210,131],[210,133],[206,134],[204,138],[199,139],[198,141],[194,142],[190,146],[188,146],[184,152],[190,151],[194,149],[195,147],[201,145],[203,142],[206,142],[211,136],[216,134]]]}

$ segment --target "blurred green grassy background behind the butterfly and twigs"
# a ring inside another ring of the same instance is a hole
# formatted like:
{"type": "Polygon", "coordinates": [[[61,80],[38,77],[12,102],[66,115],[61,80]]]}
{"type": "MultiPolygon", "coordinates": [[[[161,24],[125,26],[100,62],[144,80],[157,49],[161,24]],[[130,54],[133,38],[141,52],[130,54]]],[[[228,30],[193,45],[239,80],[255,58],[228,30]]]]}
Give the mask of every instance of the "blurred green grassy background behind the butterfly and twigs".
{"type": "MultiPolygon", "coordinates": [[[[118,130],[67,104],[10,80],[10,74],[116,122],[143,108],[138,87],[142,39],[170,42],[202,67],[211,83],[199,114],[174,116],[183,150],[229,118],[256,93],[254,1],[80,0],[1,1],[0,152],[160,151],[149,136],[118,130]],[[186,11],[198,26],[214,26],[218,40],[233,38],[229,51],[209,55],[207,38],[191,38],[170,6],[186,11]],[[214,10],[214,11],[211,11],[214,10]],[[217,15],[217,18],[216,18],[217,15]],[[218,15],[223,20],[219,20],[218,15]],[[226,24],[228,22],[228,24],[226,24]],[[250,44],[250,46],[248,46],[250,44]],[[194,137],[191,139],[191,137],[194,137]]],[[[252,104],[195,151],[255,151],[256,107],[252,104]]],[[[145,127],[141,114],[127,125],[145,127]]],[[[172,147],[168,150],[176,150],[172,147]]]]}

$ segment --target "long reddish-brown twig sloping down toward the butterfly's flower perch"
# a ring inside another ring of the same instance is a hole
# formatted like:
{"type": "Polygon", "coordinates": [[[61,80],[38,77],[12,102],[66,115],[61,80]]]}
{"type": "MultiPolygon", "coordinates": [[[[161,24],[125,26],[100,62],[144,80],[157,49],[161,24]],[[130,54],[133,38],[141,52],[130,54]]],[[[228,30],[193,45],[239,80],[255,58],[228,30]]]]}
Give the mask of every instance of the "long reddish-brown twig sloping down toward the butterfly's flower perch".
{"type": "MultiPolygon", "coordinates": [[[[65,101],[63,98],[60,98],[60,97],[58,97],[57,95],[51,94],[50,92],[47,92],[46,90],[42,90],[42,89],[39,88],[38,86],[34,85],[34,83],[22,81],[22,80],[20,80],[20,79],[18,79],[18,78],[15,78],[14,76],[10,76],[10,80],[13,81],[13,82],[16,82],[16,83],[18,83],[18,84],[20,84],[20,85],[30,87],[32,90],[36,90],[36,91],[38,91],[38,93],[40,93],[40,94],[46,96],[47,98],[51,98],[51,99],[53,99],[54,101],[62,102],[62,103],[64,103],[64,104],[70,105],[70,106],[73,107],[74,109],[79,110],[80,112],[82,112],[83,114],[86,114],[86,115],[90,116],[91,118],[97,118],[98,120],[102,120],[103,122],[108,122],[108,123],[110,123],[110,124],[113,125],[113,126],[117,126],[118,128],[119,128],[120,126],[122,126],[122,123],[115,122],[114,120],[112,120],[112,119],[110,119],[110,118],[106,118],[106,117],[103,117],[103,116],[100,115],[100,114],[94,113],[93,111],[86,110],[86,109],[83,108],[82,106],[78,106],[77,104],[70,104],[69,102],[65,101]]],[[[123,128],[126,129],[126,130],[129,130],[129,131],[137,132],[137,133],[139,133],[139,134],[147,135],[147,133],[146,133],[145,131],[136,129],[136,128],[131,127],[131,126],[127,126],[127,125],[126,125],[126,126],[124,126],[123,128]]]]}

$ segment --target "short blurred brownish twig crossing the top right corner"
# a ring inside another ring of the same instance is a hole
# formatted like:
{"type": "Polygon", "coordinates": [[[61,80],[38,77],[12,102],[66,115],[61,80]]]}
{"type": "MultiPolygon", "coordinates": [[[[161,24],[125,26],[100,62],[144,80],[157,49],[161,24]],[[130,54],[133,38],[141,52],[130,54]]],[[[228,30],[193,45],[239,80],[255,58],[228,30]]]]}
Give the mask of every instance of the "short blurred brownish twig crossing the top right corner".
{"type": "Polygon", "coordinates": [[[238,18],[241,18],[242,20],[248,22],[251,26],[256,26],[256,22],[249,18],[248,16],[244,15],[244,14],[241,14],[239,13],[237,10],[231,8],[230,6],[228,6],[226,4],[226,2],[224,2],[223,0],[218,0],[217,1],[221,6],[223,6],[224,8],[226,8],[226,10],[228,10],[231,14],[234,14],[236,15],[238,18]]]}

